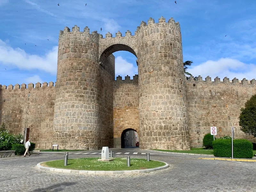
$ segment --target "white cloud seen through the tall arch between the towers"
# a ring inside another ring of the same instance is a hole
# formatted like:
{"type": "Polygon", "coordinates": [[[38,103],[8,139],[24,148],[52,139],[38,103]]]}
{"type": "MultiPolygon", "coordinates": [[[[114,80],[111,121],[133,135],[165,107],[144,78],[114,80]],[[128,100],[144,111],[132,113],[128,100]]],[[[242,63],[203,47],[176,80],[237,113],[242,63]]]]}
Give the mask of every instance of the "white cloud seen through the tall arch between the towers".
{"type": "Polygon", "coordinates": [[[115,58],[115,76],[120,75],[124,79],[124,76],[128,75],[132,79],[135,74],[138,74],[137,66],[135,67],[121,56],[115,58]]]}

